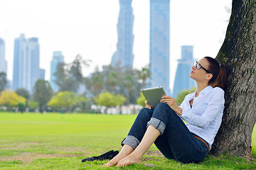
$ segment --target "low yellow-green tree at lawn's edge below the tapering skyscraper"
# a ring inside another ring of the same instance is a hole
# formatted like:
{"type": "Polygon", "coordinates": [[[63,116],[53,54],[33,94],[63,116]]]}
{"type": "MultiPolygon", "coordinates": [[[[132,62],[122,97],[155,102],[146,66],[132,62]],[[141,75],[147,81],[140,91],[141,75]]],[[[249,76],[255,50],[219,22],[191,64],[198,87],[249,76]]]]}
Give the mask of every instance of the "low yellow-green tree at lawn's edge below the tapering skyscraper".
{"type": "Polygon", "coordinates": [[[110,94],[110,92],[105,92],[100,94],[98,97],[95,97],[95,102],[99,106],[106,106],[107,108],[121,106],[125,101],[124,96],[117,94],[110,94]]]}

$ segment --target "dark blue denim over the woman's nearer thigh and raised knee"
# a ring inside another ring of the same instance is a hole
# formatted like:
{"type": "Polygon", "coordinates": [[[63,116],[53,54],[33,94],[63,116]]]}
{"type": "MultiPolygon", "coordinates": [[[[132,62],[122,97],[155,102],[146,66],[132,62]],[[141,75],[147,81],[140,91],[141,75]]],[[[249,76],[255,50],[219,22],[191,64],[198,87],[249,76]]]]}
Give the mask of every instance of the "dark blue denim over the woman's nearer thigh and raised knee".
{"type": "Polygon", "coordinates": [[[166,127],[161,131],[155,145],[168,159],[176,159],[179,162],[201,162],[208,152],[206,145],[196,140],[183,123],[181,118],[166,103],[160,103],[154,110],[149,124],[157,127],[164,123],[166,127]],[[169,147],[166,147],[166,144],[169,147]],[[171,152],[169,149],[171,149],[171,152]]]}

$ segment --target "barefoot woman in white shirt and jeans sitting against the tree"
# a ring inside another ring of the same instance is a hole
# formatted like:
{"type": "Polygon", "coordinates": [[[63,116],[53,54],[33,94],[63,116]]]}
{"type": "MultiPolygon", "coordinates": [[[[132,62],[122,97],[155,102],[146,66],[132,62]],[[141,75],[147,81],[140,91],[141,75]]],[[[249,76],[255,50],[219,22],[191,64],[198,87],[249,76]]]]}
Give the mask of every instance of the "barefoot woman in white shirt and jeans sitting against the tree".
{"type": "Polygon", "coordinates": [[[188,94],[181,106],[174,98],[163,96],[153,111],[145,101],[146,108],[122,141],[122,150],[103,166],[140,163],[153,143],[167,159],[178,162],[198,163],[206,157],[223,116],[227,71],[215,59],[203,57],[189,77],[196,81],[197,90],[188,94]]]}

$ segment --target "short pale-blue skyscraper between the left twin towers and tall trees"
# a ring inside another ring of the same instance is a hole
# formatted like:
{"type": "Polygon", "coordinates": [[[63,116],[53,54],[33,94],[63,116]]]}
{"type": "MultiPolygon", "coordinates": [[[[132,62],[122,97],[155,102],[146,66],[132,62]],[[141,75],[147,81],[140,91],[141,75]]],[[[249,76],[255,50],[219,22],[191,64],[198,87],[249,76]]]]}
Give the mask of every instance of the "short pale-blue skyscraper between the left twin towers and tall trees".
{"type": "Polygon", "coordinates": [[[57,71],[58,64],[64,62],[64,56],[61,51],[53,52],[53,60],[50,62],[50,86],[53,91],[58,91],[58,86],[55,84],[55,72],[57,71]]]}

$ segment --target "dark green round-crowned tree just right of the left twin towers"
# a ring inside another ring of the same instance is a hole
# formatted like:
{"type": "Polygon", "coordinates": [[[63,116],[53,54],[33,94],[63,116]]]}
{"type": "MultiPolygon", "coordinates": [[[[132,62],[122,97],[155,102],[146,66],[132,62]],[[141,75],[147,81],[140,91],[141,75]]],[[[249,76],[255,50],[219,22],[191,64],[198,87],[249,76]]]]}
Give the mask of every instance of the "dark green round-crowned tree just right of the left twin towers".
{"type": "Polygon", "coordinates": [[[33,87],[33,98],[38,102],[39,111],[43,113],[46,103],[50,101],[53,96],[53,89],[51,89],[48,81],[38,79],[33,87]]]}

